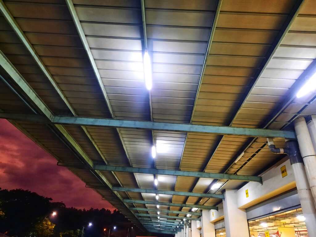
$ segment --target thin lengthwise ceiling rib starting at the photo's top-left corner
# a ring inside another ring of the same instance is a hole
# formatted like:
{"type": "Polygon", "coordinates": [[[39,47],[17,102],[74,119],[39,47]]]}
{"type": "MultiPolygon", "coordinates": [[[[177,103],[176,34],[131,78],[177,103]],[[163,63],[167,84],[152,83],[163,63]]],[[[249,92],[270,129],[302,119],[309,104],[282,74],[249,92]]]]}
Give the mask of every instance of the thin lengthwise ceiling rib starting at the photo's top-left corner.
{"type": "MultiPolygon", "coordinates": [[[[31,56],[34,59],[34,61],[40,67],[41,71],[44,73],[46,78],[49,80],[49,82],[52,84],[52,86],[57,91],[58,95],[64,101],[64,103],[66,104],[66,106],[68,107],[70,112],[74,116],[77,116],[77,113],[76,113],[75,109],[71,106],[70,102],[68,101],[68,99],[66,98],[64,93],[62,92],[61,88],[58,86],[58,84],[56,83],[56,81],[52,77],[51,73],[47,70],[45,64],[40,59],[40,56],[37,54],[37,52],[35,51],[34,47],[29,42],[29,40],[27,39],[26,35],[23,33],[22,29],[20,28],[18,23],[15,21],[14,17],[9,12],[9,9],[6,7],[6,5],[3,3],[2,0],[0,0],[0,10],[1,10],[1,13],[3,14],[3,16],[5,17],[5,19],[7,20],[7,22],[9,23],[9,25],[15,31],[16,35],[18,36],[18,38],[22,41],[23,45],[27,48],[28,52],[31,54],[31,56]]],[[[84,126],[81,126],[81,128],[86,133],[87,137],[89,138],[89,140],[91,141],[91,143],[93,144],[94,148],[97,150],[97,152],[99,153],[99,155],[101,156],[103,161],[107,164],[108,162],[106,161],[106,158],[104,157],[103,153],[100,151],[100,149],[97,146],[97,144],[95,143],[94,139],[91,137],[91,135],[88,132],[87,128],[85,128],[84,126]]],[[[112,174],[116,177],[115,173],[112,172],[112,174]]],[[[119,179],[117,177],[116,177],[116,179],[120,183],[120,181],[119,181],[119,179]]]]}

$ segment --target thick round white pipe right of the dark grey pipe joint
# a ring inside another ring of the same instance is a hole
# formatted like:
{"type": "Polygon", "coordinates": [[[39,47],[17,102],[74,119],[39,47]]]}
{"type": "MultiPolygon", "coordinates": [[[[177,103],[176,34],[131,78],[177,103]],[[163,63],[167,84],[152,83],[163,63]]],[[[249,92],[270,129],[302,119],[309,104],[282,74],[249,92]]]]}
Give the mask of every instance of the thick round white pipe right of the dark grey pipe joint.
{"type": "Polygon", "coordinates": [[[316,203],[316,155],[305,118],[300,117],[295,119],[294,127],[305,164],[308,183],[312,191],[314,203],[316,203]]]}

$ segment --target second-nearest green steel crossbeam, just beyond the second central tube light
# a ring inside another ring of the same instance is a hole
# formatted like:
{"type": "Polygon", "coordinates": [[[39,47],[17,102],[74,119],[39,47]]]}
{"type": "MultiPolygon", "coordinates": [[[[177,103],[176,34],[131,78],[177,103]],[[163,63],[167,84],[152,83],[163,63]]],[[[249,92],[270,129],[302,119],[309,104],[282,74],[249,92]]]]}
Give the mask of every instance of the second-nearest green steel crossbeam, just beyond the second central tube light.
{"type": "MultiPolygon", "coordinates": [[[[58,162],[57,165],[70,168],[88,168],[82,163],[68,163],[58,162]]],[[[122,167],[122,166],[109,166],[109,165],[94,165],[94,170],[100,171],[114,171],[114,172],[130,172],[130,173],[146,173],[146,174],[161,174],[185,177],[197,177],[205,179],[231,179],[250,182],[259,182],[262,184],[262,177],[260,176],[247,176],[237,174],[222,174],[222,173],[205,173],[195,171],[182,171],[182,170],[168,170],[168,169],[152,169],[152,168],[138,168],[138,167],[122,167]]]]}

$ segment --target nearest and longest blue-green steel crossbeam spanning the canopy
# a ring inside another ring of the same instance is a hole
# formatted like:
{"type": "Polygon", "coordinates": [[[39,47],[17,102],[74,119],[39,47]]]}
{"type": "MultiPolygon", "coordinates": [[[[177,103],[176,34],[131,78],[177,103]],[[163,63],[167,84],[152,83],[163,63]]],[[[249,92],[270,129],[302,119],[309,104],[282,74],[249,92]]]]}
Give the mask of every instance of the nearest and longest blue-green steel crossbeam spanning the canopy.
{"type": "MultiPolygon", "coordinates": [[[[47,123],[47,119],[45,117],[42,117],[41,115],[1,113],[0,118],[47,123]]],[[[145,129],[145,130],[157,130],[157,131],[212,133],[212,134],[220,134],[220,135],[236,135],[236,136],[246,136],[246,137],[284,137],[287,139],[296,139],[295,131],[258,129],[258,128],[240,128],[240,127],[230,127],[230,126],[176,124],[176,123],[162,123],[162,122],[151,122],[151,121],[133,121],[133,120],[69,117],[69,116],[52,116],[50,122],[53,124],[62,124],[62,125],[68,124],[68,125],[81,125],[81,126],[103,126],[103,127],[145,129]]]]}

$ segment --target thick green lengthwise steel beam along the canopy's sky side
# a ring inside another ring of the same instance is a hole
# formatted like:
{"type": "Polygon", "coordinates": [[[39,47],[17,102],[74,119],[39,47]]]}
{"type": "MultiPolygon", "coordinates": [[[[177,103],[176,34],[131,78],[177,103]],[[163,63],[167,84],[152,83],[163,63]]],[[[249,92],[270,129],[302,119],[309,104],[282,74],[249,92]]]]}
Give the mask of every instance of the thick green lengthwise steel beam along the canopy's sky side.
{"type": "MultiPolygon", "coordinates": [[[[14,80],[14,82],[18,85],[21,91],[32,101],[33,104],[37,106],[37,108],[44,113],[48,119],[50,119],[53,115],[50,112],[49,108],[46,104],[40,99],[40,97],[33,91],[33,89],[28,85],[25,79],[21,76],[21,74],[15,69],[15,67],[9,62],[9,60],[5,57],[5,55],[0,51],[0,62],[3,69],[8,73],[8,75],[14,80]]],[[[18,93],[18,92],[16,92],[18,93]]],[[[56,130],[70,143],[73,147],[74,151],[76,151],[85,161],[87,165],[89,165],[92,169],[94,163],[88,157],[88,155],[82,150],[80,145],[74,140],[74,138],[69,134],[69,132],[64,128],[63,125],[52,125],[52,131],[56,133],[56,130]],[[55,128],[55,129],[54,129],[55,128]]],[[[64,139],[62,139],[64,141],[64,139]]],[[[67,144],[66,144],[67,145],[67,144]]],[[[96,174],[96,177],[100,178],[106,186],[108,186],[109,191],[111,191],[121,202],[122,204],[129,210],[128,205],[126,205],[122,200],[123,198],[119,195],[117,191],[112,191],[111,183],[106,179],[106,177],[100,171],[91,170],[91,172],[96,174]]],[[[131,212],[131,210],[129,210],[131,212]]],[[[132,212],[131,212],[132,213],[132,212]]]]}

